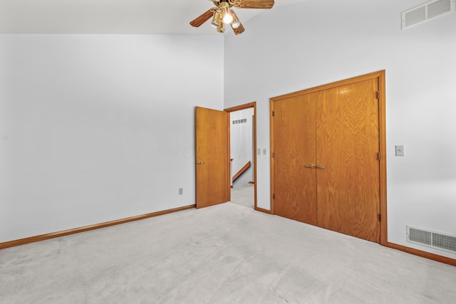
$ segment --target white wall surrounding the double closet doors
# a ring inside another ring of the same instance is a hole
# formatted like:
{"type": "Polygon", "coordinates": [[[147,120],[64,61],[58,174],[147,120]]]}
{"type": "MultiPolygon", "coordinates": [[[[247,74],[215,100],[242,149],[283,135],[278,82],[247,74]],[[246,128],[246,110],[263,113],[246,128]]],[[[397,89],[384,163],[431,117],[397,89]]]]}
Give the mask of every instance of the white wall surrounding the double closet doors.
{"type": "MultiPolygon", "coordinates": [[[[400,12],[422,2],[309,0],[264,11],[225,38],[224,106],[257,100],[257,147],[269,147],[269,98],[385,69],[388,241],[456,258],[405,235],[407,224],[456,235],[456,13],[401,31],[400,12]]],[[[269,209],[269,157],[257,169],[257,203],[269,209]]]]}

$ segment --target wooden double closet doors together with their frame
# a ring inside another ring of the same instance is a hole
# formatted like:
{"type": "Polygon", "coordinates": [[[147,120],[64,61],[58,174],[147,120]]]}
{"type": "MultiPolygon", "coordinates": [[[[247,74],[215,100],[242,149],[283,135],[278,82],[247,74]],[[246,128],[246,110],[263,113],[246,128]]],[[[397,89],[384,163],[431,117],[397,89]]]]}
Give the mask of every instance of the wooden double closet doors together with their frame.
{"type": "Polygon", "coordinates": [[[386,245],[385,133],[385,70],[271,98],[271,213],[386,245]]]}

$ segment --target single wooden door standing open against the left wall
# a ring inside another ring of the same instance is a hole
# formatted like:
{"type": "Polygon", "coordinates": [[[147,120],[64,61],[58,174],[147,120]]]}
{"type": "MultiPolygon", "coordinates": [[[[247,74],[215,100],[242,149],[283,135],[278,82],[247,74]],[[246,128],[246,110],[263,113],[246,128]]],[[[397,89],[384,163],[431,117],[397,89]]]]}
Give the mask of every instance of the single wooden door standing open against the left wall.
{"type": "Polygon", "coordinates": [[[196,206],[229,201],[229,113],[196,107],[196,206]]]}

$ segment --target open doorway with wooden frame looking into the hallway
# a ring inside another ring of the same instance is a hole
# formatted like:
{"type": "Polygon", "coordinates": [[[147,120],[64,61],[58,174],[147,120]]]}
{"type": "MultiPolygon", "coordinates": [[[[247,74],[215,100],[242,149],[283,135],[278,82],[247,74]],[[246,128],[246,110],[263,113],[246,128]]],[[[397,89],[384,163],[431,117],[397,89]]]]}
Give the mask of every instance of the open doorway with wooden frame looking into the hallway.
{"type": "Polygon", "coordinates": [[[229,113],[231,201],[257,209],[257,103],[225,111],[229,113]]]}

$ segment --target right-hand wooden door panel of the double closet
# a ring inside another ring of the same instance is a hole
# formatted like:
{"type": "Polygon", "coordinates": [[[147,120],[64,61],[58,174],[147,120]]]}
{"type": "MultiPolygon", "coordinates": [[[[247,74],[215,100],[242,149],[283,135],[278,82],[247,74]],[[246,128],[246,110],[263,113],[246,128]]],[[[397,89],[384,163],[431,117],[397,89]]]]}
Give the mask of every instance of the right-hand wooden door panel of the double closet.
{"type": "Polygon", "coordinates": [[[378,79],[316,95],[318,226],[380,241],[378,79]]]}

